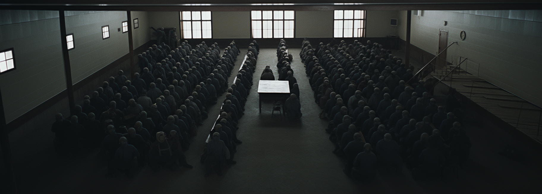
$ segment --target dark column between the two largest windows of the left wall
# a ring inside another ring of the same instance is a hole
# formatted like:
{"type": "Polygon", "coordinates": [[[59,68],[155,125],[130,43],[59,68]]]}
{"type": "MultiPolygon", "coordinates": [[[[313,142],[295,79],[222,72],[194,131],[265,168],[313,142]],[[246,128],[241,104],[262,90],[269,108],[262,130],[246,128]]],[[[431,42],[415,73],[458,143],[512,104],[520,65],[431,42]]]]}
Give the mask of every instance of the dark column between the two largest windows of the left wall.
{"type": "Polygon", "coordinates": [[[73,95],[72,67],[69,63],[68,45],[66,44],[66,18],[64,10],[59,11],[60,17],[60,45],[62,45],[62,56],[64,57],[64,73],[66,74],[66,88],[68,92],[68,103],[70,114],[75,113],[75,98],[73,95]]]}

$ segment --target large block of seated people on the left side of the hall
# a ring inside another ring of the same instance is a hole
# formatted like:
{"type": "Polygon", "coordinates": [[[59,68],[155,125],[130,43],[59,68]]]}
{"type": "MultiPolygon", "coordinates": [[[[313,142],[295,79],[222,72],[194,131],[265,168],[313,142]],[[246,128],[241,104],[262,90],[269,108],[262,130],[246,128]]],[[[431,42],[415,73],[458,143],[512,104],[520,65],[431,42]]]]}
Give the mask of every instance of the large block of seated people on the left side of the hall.
{"type": "Polygon", "coordinates": [[[197,45],[195,50],[199,52],[190,50],[189,46],[185,43],[171,51],[173,56],[188,53],[183,58],[185,60],[180,60],[183,63],[175,63],[175,59],[165,61],[163,54],[157,54],[166,53],[169,50],[167,45],[153,45],[146,51],[150,54],[146,55],[148,60],[144,60],[147,64],[143,67],[142,78],[139,73],[135,73],[134,79],[130,81],[119,70],[116,77],[109,78],[109,82],[105,81],[102,87],[92,93],[92,98],[83,97],[83,105],[75,107],[71,121],[57,114],[56,122],[51,127],[55,133],[55,150],[73,152],[91,150],[100,145],[102,153],[107,155],[110,169],[108,175],[111,176],[114,176],[118,168],[133,172],[134,163],[140,167],[148,163],[154,170],[160,167],[175,169],[177,162],[192,168],[186,163],[182,151],[189,148],[189,137],[196,135],[197,126],[207,118],[207,107],[216,103],[217,95],[225,91],[221,89],[223,84],[214,76],[227,79],[238,49],[232,42],[220,55],[222,59],[227,58],[223,61],[215,57],[220,52],[216,43],[212,47],[204,42],[197,45]],[[203,50],[207,50],[208,56],[213,56],[210,57],[213,59],[211,63],[197,62],[203,58],[203,50]],[[160,59],[164,65],[154,63],[160,59]],[[153,73],[150,73],[149,68],[154,70],[153,73]],[[188,71],[183,71],[185,74],[182,77],[162,77],[165,72],[171,74],[177,69],[188,71]],[[127,144],[133,146],[135,151],[119,147],[122,145],[119,142],[121,137],[126,137],[127,144]],[[118,157],[130,154],[134,157],[118,157]]]}

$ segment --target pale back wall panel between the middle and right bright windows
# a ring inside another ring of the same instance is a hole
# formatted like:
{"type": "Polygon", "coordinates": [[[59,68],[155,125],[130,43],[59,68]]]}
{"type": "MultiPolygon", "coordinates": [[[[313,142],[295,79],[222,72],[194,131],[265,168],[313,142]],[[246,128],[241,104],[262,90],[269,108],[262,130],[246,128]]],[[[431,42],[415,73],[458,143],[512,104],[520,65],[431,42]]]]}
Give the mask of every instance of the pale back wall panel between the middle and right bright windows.
{"type": "Polygon", "coordinates": [[[296,11],[295,38],[333,38],[333,11],[296,11]]]}

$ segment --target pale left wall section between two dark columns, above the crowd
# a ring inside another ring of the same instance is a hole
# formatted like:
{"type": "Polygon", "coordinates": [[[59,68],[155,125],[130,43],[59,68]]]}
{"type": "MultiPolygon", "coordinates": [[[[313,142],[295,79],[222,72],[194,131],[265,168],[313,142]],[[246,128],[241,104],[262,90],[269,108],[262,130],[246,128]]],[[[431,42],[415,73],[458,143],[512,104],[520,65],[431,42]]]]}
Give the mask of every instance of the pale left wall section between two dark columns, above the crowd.
{"type": "MultiPolygon", "coordinates": [[[[73,84],[127,54],[128,32],[118,28],[127,20],[126,11],[65,11],[66,34],[74,33],[75,49],[69,51],[73,84]],[[109,25],[109,38],[101,27],[109,25]]],[[[130,22],[130,21],[128,21],[130,22]]]]}

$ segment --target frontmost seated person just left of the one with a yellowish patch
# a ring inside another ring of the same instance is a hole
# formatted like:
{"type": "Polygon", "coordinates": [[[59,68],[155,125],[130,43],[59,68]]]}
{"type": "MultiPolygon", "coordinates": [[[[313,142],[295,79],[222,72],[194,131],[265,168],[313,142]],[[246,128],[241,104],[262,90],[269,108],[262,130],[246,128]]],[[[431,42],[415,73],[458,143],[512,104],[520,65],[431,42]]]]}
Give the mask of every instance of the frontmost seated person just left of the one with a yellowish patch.
{"type": "Polygon", "coordinates": [[[131,144],[128,144],[126,137],[119,138],[120,147],[115,152],[114,159],[109,162],[107,173],[108,177],[115,177],[117,169],[128,169],[128,176],[133,176],[137,170],[139,151],[131,144]]]}

